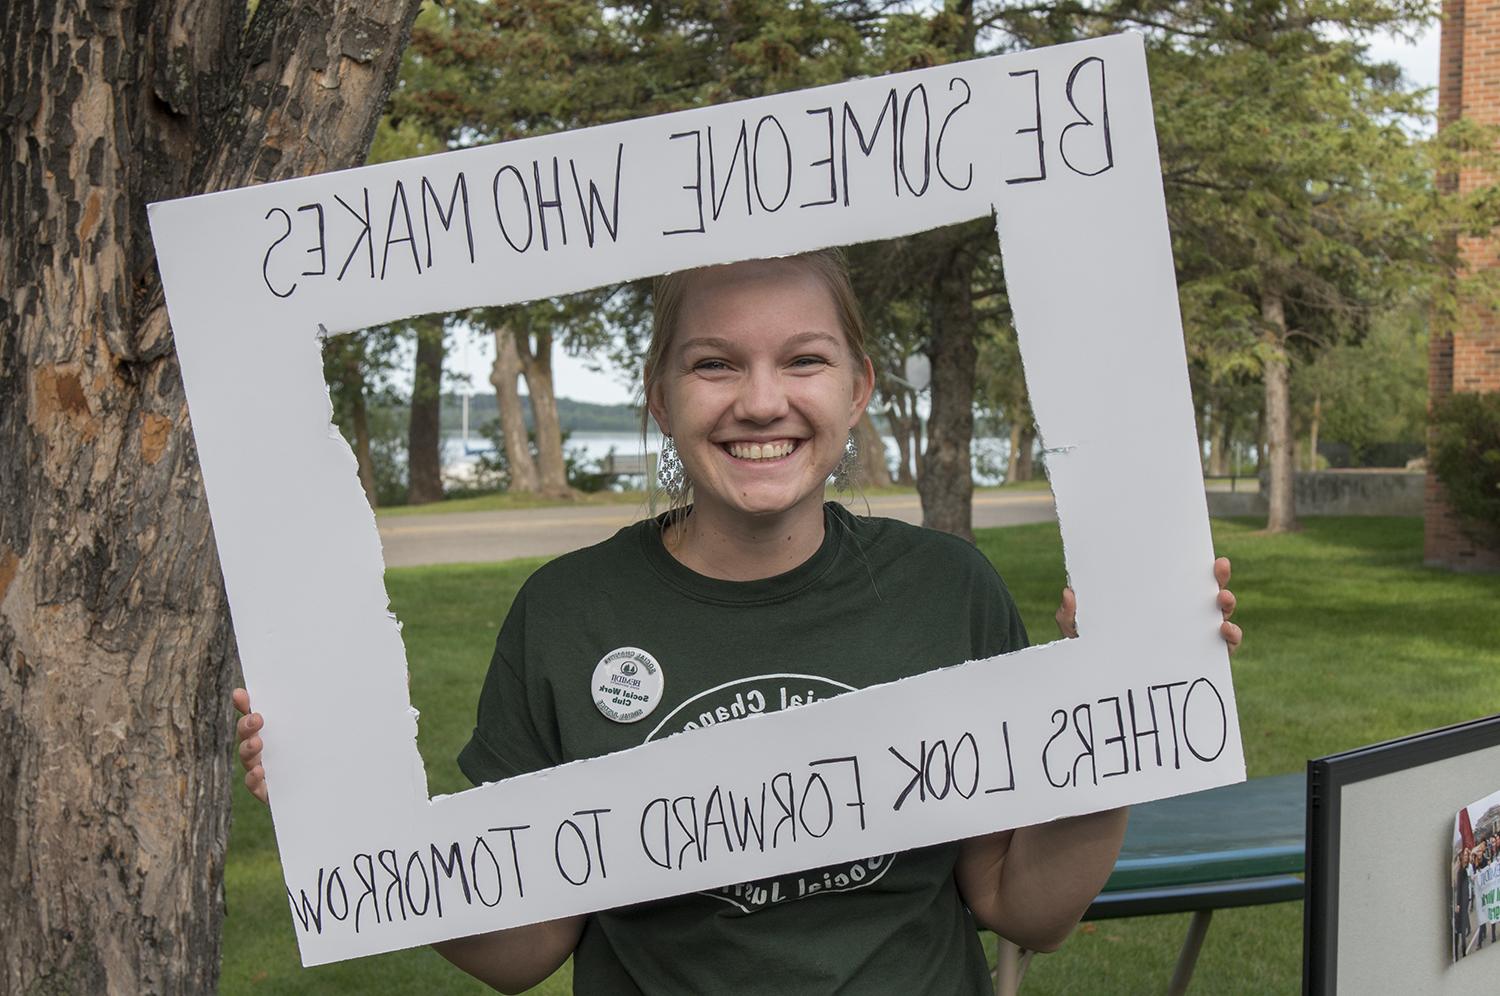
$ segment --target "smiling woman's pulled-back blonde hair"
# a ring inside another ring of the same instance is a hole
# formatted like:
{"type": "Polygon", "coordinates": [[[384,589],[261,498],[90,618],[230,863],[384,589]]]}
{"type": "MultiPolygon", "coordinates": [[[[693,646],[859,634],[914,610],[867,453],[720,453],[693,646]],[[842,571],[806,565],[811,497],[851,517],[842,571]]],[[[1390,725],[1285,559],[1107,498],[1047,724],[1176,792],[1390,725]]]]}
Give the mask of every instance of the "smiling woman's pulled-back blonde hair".
{"type": "MultiPolygon", "coordinates": [[[[844,334],[849,352],[854,354],[858,366],[864,366],[870,356],[864,345],[864,312],[860,309],[860,298],[854,292],[854,282],[849,279],[849,261],[844,256],[843,249],[838,249],[837,246],[831,249],[814,249],[813,252],[802,252],[794,256],[778,256],[776,258],[776,262],[788,262],[804,267],[822,280],[824,286],[828,290],[828,296],[834,302],[834,310],[838,314],[838,328],[844,334]]],[[[682,302],[687,298],[687,290],[692,286],[693,279],[700,276],[708,268],[711,267],[663,273],[657,276],[651,285],[651,344],[646,346],[646,362],[640,376],[642,450],[645,450],[645,441],[651,432],[651,392],[662,378],[662,366],[666,360],[668,351],[672,348],[672,339],[676,336],[676,326],[682,315],[682,302]]],[[[669,508],[669,512],[674,513],[672,518],[675,518],[676,512],[692,502],[692,482],[687,482],[687,488],[682,489],[682,495],[672,501],[669,508]]],[[[651,512],[656,513],[657,496],[660,494],[660,488],[656,480],[648,482],[648,490],[650,507],[651,512]]]]}

